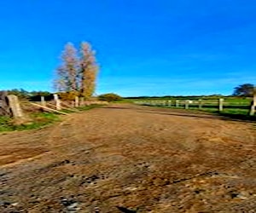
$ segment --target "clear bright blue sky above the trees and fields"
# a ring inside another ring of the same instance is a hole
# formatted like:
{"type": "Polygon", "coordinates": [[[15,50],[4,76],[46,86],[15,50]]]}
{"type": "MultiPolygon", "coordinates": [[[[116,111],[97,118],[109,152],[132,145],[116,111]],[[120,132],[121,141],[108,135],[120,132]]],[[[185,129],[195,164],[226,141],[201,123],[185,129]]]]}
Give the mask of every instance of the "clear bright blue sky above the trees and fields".
{"type": "Polygon", "coordinates": [[[52,90],[67,42],[88,41],[97,94],[230,95],[256,83],[255,0],[0,1],[0,89],[52,90]]]}

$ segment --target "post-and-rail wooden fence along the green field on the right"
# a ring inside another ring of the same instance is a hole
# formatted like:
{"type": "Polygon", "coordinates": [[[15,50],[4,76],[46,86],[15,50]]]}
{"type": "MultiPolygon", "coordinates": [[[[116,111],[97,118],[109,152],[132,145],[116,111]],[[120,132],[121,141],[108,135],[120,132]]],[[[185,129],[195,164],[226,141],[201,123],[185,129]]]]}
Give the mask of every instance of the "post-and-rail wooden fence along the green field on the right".
{"type": "Polygon", "coordinates": [[[184,108],[184,109],[199,109],[208,111],[223,112],[224,110],[230,111],[243,111],[253,116],[255,114],[256,107],[256,95],[253,100],[232,100],[223,98],[210,100],[210,99],[199,99],[199,100],[145,100],[145,101],[134,101],[135,104],[154,106],[154,107],[173,107],[173,108],[184,108]]]}

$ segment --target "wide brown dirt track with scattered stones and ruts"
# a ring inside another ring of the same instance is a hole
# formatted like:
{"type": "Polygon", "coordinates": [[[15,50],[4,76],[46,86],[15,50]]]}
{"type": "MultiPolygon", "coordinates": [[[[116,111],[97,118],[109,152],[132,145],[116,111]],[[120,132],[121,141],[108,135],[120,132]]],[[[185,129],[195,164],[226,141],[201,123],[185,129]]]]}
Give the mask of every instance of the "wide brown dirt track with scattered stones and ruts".
{"type": "Polygon", "coordinates": [[[0,135],[0,212],[256,212],[255,124],[113,105],[0,135]]]}

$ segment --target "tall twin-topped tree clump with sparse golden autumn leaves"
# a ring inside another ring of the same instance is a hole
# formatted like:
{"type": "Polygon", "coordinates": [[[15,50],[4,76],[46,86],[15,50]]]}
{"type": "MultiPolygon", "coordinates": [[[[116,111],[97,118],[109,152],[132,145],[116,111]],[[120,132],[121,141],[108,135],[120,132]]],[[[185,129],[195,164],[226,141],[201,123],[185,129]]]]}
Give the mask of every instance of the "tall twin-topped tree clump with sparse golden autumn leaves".
{"type": "Polygon", "coordinates": [[[79,57],[72,43],[67,43],[61,55],[62,64],[57,68],[55,89],[89,99],[96,89],[95,51],[90,43],[81,43],[79,57]]]}

